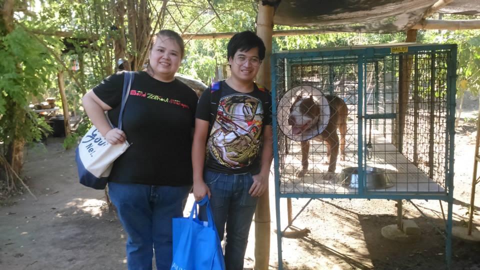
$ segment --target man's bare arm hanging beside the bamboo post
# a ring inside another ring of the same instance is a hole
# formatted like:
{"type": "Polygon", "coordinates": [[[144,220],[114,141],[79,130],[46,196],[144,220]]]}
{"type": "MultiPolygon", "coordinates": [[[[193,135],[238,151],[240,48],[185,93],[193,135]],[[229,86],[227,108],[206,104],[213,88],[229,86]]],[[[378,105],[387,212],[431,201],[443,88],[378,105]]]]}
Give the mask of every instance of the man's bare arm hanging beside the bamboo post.
{"type": "Polygon", "coordinates": [[[271,159],[273,157],[273,134],[271,125],[263,126],[263,145],[261,148],[260,173],[253,175],[253,184],[248,190],[252,197],[259,197],[268,188],[271,159]]]}

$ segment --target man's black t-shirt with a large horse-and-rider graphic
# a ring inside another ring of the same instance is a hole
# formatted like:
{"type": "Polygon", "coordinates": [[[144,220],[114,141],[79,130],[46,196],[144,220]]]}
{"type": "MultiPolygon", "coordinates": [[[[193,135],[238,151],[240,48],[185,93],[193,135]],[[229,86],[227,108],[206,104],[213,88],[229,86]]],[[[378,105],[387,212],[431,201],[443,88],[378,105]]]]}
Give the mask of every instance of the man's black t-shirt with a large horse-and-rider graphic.
{"type": "MultiPolygon", "coordinates": [[[[257,174],[263,125],[271,125],[269,92],[252,89],[242,93],[220,82],[220,100],[213,114],[215,121],[206,141],[205,168],[224,173],[257,174]]],[[[262,88],[263,89],[263,88],[262,88]]],[[[211,89],[203,91],[198,100],[196,118],[210,121],[211,89]]]]}

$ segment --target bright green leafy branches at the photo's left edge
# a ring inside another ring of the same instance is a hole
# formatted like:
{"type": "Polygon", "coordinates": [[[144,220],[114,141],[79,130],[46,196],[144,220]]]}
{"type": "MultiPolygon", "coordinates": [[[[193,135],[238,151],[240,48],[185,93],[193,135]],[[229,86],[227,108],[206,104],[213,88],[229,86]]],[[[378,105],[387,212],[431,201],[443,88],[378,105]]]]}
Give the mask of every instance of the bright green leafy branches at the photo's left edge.
{"type": "MultiPolygon", "coordinates": [[[[59,47],[58,40],[44,42],[59,47]]],[[[49,127],[28,108],[28,103],[51,86],[50,76],[58,66],[45,46],[22,27],[0,37],[0,59],[0,141],[39,140],[42,130],[49,127]]]]}

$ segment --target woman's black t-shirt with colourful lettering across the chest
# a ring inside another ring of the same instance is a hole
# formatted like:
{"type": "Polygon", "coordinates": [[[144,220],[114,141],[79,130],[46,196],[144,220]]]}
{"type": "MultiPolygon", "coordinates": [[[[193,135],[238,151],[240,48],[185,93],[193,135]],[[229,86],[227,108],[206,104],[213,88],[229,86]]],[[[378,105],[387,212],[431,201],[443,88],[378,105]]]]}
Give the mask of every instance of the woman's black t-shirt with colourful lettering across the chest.
{"type": "MultiPolygon", "coordinates": [[[[108,118],[116,126],[123,72],[93,88],[112,107],[108,118]]],[[[198,97],[175,79],[162,82],[135,72],[123,111],[122,129],[130,147],[113,163],[109,181],[181,186],[192,183],[191,129],[198,97]]]]}

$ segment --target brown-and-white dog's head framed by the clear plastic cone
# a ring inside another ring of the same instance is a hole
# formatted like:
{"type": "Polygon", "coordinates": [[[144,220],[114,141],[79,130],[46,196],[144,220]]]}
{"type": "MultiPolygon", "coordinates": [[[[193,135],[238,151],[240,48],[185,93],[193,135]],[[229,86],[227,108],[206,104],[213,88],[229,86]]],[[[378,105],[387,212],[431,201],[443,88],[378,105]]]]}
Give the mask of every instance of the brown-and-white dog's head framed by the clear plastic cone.
{"type": "Polygon", "coordinates": [[[316,126],[320,116],[320,107],[313,100],[313,97],[297,96],[290,107],[288,124],[291,125],[291,132],[294,135],[302,134],[305,130],[316,126]]]}

